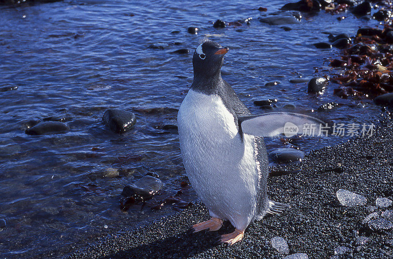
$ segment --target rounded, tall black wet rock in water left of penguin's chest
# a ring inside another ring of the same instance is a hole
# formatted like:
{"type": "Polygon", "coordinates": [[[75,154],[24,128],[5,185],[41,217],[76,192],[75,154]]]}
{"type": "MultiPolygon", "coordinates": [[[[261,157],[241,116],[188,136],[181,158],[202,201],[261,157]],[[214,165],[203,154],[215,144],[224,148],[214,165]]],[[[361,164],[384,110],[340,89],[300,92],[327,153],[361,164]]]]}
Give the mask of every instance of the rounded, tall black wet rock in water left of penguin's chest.
{"type": "Polygon", "coordinates": [[[109,129],[116,133],[126,132],[137,122],[134,113],[118,109],[106,110],[102,120],[109,129]]]}

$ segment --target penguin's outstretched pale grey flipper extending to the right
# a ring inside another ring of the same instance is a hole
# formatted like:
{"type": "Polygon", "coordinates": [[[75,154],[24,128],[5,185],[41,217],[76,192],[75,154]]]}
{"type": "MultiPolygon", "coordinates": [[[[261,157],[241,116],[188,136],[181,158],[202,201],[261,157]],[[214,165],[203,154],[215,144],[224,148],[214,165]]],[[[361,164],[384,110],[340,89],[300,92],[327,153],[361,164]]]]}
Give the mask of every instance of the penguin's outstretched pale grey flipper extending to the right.
{"type": "MultiPolygon", "coordinates": [[[[269,112],[239,117],[239,125],[243,133],[259,137],[274,137],[281,133],[293,136],[302,132],[315,136],[326,127],[326,124],[317,118],[292,112],[269,112]],[[288,129],[293,130],[288,131],[288,129]]],[[[326,132],[326,129],[324,130],[326,132]]]]}

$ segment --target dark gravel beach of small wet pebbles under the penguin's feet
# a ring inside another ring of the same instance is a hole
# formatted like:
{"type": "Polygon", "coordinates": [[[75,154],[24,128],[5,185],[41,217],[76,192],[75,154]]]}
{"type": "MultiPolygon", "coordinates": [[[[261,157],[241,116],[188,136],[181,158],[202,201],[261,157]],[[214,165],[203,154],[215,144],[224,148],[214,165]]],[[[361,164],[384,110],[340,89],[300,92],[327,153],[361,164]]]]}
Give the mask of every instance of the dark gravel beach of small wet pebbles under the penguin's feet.
{"type": "Polygon", "coordinates": [[[190,225],[208,218],[206,208],[195,203],[137,230],[113,233],[71,255],[59,256],[70,259],[284,258],[270,245],[274,236],[281,236],[288,242],[290,254],[306,253],[310,259],[330,258],[340,246],[349,247],[352,258],[387,258],[392,255],[393,245],[387,245],[393,239],[392,231],[372,232],[361,222],[371,213],[369,206],[375,206],[376,198],[393,197],[392,133],[393,121],[388,119],[377,125],[370,137],[315,150],[301,164],[282,166],[287,171],[301,171],[270,178],[268,193],[273,200],[291,207],[251,224],[244,239],[232,247],[214,244],[218,234],[232,231],[228,223],[216,233],[187,232],[190,225]],[[365,196],[366,206],[341,206],[336,197],[339,188],[365,196]],[[357,245],[357,236],[367,236],[368,241],[357,245]]]}

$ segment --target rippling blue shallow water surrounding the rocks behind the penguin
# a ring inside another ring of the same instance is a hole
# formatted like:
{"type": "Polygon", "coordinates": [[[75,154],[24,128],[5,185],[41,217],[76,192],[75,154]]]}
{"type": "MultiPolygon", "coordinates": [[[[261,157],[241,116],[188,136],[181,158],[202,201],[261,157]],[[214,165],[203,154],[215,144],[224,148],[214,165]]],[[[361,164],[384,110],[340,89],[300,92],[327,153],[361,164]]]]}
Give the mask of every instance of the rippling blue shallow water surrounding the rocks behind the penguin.
{"type": "MultiPolygon", "coordinates": [[[[223,77],[253,113],[264,112],[253,101],[276,98],[278,109],[295,104],[298,112],[337,123],[373,122],[381,110],[372,102],[340,99],[333,95],[333,83],[315,97],[307,94],[307,83],[289,80],[338,73],[330,71],[327,59],[339,51],[318,50],[312,43],[327,42],[327,32],[354,35],[359,27],[377,23],[349,13],[338,22],[339,15],[323,11],[283,25],[290,31],[258,21],[282,4],[264,3],[267,12],[259,12],[260,5],[248,0],[74,0],[0,6],[0,87],[18,86],[0,92],[0,218],[7,223],[0,230],[0,253],[32,257],[66,244],[84,244],[88,238],[132,228],[172,210],[136,205],[122,212],[119,195],[125,184],[147,173],[159,175],[167,195],[175,194],[186,180],[177,132],[160,129],[176,124],[177,112],[144,109],[180,106],[193,78],[192,53],[204,38],[230,48],[223,77]],[[212,26],[217,19],[249,17],[251,25],[212,26]],[[188,33],[188,26],[197,26],[198,34],[188,33]],[[148,48],[153,43],[167,47],[148,48]],[[184,48],[190,53],[171,53],[184,48]],[[280,84],[265,87],[274,80],[280,84]],[[333,101],[343,105],[316,111],[333,101]],[[121,135],[106,129],[101,117],[110,107],[133,111],[135,128],[121,135]],[[25,134],[30,121],[44,119],[64,121],[71,130],[25,134]],[[107,167],[123,173],[103,178],[100,170],[107,167]]],[[[291,12],[280,15],[291,17],[291,12]]],[[[344,139],[302,138],[293,144],[307,153],[344,139]]],[[[279,139],[267,140],[268,151],[284,147],[279,139]]],[[[190,188],[181,198],[197,199],[190,188]]]]}

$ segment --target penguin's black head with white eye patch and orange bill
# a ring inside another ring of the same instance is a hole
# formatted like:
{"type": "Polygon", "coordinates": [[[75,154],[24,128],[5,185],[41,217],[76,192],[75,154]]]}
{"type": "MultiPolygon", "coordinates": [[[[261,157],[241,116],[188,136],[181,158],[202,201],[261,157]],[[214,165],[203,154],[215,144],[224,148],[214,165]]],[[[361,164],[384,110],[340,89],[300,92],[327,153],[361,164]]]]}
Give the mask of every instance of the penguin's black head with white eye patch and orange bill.
{"type": "Polygon", "coordinates": [[[194,75],[209,78],[220,73],[224,55],[228,51],[229,48],[222,47],[214,41],[200,44],[193,56],[194,75]]]}

